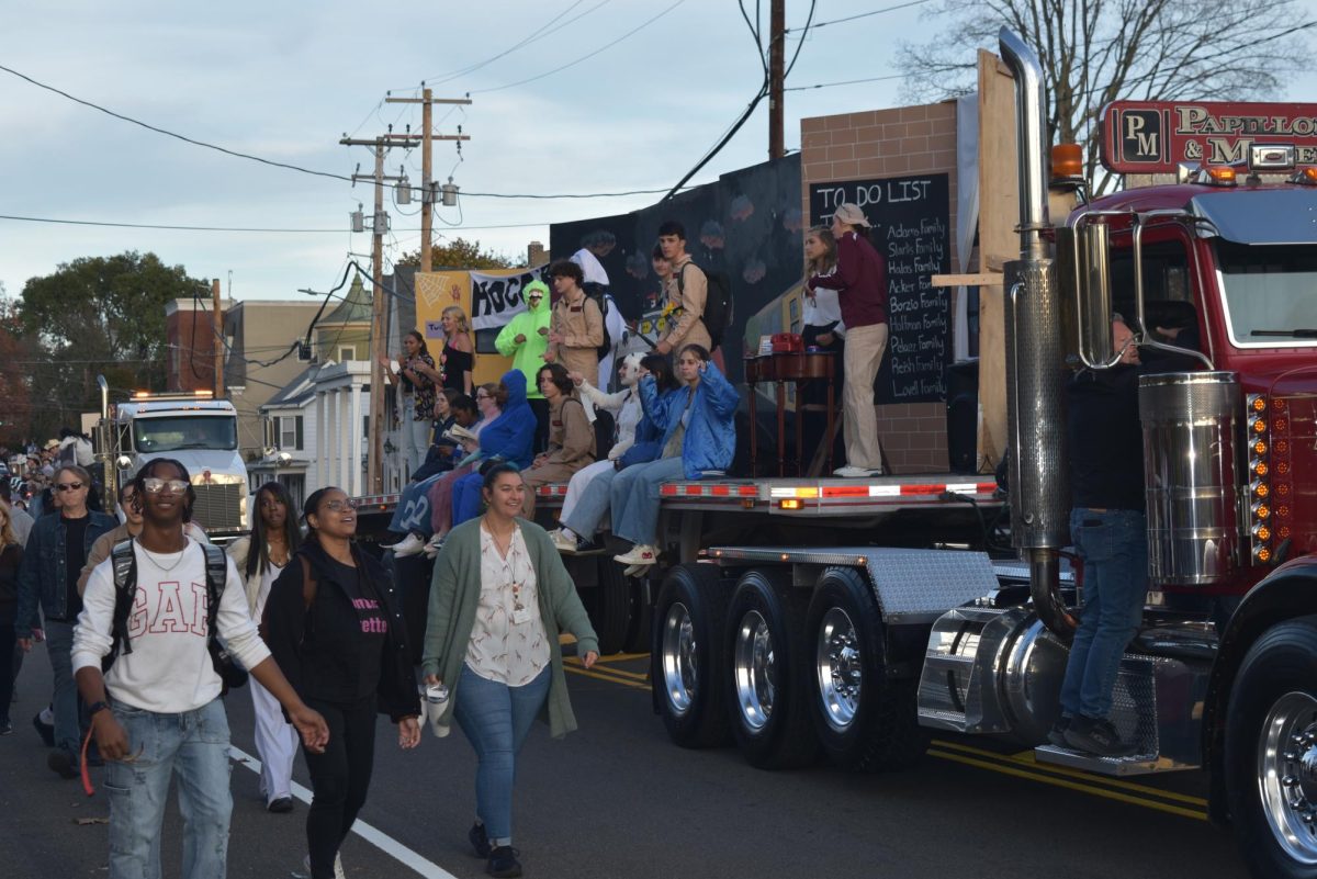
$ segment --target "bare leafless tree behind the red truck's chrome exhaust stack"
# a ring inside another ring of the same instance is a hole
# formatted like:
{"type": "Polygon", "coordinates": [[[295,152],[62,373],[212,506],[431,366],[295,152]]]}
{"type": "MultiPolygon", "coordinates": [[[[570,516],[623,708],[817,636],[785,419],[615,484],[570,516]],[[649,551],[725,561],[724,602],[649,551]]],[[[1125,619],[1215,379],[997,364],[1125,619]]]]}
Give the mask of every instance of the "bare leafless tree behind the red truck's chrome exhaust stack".
{"type": "Polygon", "coordinates": [[[975,88],[975,50],[997,51],[1008,26],[1038,53],[1052,142],[1084,146],[1097,192],[1098,117],[1114,100],[1275,96],[1306,71],[1317,20],[1296,0],[939,0],[926,43],[902,43],[909,93],[943,99],[975,88]]]}

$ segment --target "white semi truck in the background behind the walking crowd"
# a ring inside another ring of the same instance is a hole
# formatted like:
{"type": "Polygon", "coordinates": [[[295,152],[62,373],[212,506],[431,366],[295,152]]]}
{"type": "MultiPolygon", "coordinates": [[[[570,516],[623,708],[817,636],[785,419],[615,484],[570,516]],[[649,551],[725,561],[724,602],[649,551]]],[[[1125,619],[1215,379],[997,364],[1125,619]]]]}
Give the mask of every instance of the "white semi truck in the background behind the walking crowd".
{"type": "MultiPolygon", "coordinates": [[[[174,458],[192,478],[192,520],[216,543],[242,537],[250,528],[248,472],[238,453],[237,409],[209,391],[151,393],[137,391],[125,403],[109,403],[103,378],[96,459],[104,467],[105,497],[153,458],[174,458]]],[[[109,504],[107,503],[107,508],[109,504]]]]}

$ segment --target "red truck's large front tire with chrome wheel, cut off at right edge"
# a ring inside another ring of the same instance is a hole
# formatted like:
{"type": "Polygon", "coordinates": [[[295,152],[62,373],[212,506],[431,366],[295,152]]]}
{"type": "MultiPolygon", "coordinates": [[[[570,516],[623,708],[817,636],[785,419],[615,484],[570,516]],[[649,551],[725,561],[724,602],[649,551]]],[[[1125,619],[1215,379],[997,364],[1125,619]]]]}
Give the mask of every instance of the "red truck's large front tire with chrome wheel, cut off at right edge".
{"type": "Polygon", "coordinates": [[[1314,762],[1317,618],[1306,617],[1264,632],[1230,691],[1226,796],[1251,875],[1317,878],[1314,762]]]}

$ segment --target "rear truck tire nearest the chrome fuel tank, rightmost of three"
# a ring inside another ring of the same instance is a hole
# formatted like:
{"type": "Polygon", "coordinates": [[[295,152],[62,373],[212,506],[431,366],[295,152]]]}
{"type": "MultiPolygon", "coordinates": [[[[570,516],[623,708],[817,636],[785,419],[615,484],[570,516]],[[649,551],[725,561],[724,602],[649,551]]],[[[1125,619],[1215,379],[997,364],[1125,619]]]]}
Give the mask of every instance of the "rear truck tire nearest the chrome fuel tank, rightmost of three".
{"type": "Polygon", "coordinates": [[[919,762],[928,747],[918,721],[919,682],[888,679],[882,617],[864,575],[827,568],[805,625],[811,715],[828,759],[861,772],[919,762]]]}

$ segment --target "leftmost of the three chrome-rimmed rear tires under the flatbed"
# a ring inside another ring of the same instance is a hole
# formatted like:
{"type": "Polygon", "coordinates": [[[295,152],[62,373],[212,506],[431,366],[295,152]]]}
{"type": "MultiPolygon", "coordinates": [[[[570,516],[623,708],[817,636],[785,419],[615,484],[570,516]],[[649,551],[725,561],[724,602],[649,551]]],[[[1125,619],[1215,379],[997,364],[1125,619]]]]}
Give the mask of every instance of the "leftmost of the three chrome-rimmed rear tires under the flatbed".
{"type": "Polygon", "coordinates": [[[678,565],[658,591],[649,655],[655,709],[681,747],[714,747],[731,738],[718,675],[727,597],[711,565],[678,565]]]}

